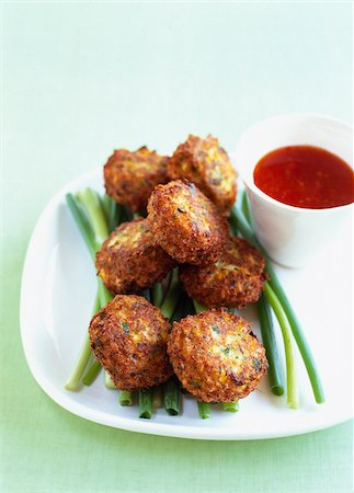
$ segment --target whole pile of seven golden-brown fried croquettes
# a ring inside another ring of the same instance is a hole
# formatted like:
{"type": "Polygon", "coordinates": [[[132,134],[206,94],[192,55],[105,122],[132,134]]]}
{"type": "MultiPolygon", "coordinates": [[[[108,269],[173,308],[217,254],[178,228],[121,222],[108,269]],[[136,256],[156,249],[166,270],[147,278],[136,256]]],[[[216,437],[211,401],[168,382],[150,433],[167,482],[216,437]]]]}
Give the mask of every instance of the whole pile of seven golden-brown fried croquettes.
{"type": "Polygon", "coordinates": [[[171,157],[146,147],[115,150],[104,182],[139,217],[118,226],[96,253],[98,275],[115,297],[90,323],[95,358],[122,390],[174,374],[199,401],[245,398],[267,362],[249,322],[230,309],[258,301],[265,262],[229,233],[237,175],[218,139],[190,135],[171,157]],[[186,295],[205,310],[171,326],[140,294],[175,267],[186,295]]]}

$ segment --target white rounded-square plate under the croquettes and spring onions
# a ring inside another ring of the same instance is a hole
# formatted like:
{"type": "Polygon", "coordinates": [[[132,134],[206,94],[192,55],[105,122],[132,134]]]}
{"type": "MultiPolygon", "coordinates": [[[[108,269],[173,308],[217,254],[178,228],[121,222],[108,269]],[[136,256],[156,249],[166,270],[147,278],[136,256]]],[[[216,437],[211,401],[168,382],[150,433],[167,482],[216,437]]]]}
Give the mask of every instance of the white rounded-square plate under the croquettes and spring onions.
{"type": "MultiPolygon", "coordinates": [[[[209,420],[201,420],[196,402],[185,397],[180,416],[169,416],[160,409],[152,420],[138,419],[137,408],[121,408],[116,391],[107,390],[102,378],[79,392],[65,390],[64,383],[87,331],[96,287],[94,268],[66,206],[65,194],[87,186],[103,191],[101,169],[69,183],[47,205],[33,232],[22,278],[24,352],[34,378],[55,402],[104,425],[201,439],[297,435],[351,417],[350,228],[342,230],[307,270],[275,266],[315,353],[326,404],[315,403],[300,357],[300,409],[297,411],[287,408],[285,397],[270,392],[266,378],[259,390],[240,402],[239,413],[226,413],[213,406],[209,420]]],[[[254,322],[253,329],[259,334],[254,309],[244,310],[243,317],[254,322]]]]}

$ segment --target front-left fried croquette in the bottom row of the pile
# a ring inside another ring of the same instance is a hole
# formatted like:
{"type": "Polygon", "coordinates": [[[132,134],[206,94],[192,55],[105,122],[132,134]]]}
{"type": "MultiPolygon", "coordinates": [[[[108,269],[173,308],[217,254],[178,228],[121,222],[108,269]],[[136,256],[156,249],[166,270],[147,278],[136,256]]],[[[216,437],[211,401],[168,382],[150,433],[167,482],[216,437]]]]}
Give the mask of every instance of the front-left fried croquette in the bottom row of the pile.
{"type": "Polygon", "coordinates": [[[168,380],[170,323],[140,296],[117,295],[89,328],[95,358],[122,390],[144,389],[168,380]]]}

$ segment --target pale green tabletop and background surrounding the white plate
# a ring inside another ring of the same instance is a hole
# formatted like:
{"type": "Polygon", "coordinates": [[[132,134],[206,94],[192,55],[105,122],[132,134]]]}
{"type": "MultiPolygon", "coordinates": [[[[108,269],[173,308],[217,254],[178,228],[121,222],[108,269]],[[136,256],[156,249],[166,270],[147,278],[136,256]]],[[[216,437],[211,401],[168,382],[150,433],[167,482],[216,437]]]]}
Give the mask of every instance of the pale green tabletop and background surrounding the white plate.
{"type": "Polygon", "coordinates": [[[170,151],[189,131],[212,131],[232,150],[273,114],[351,119],[350,3],[8,3],[3,24],[0,491],[351,492],[350,423],[203,443],[69,414],[30,375],[18,316],[38,214],[114,147],[170,151]]]}

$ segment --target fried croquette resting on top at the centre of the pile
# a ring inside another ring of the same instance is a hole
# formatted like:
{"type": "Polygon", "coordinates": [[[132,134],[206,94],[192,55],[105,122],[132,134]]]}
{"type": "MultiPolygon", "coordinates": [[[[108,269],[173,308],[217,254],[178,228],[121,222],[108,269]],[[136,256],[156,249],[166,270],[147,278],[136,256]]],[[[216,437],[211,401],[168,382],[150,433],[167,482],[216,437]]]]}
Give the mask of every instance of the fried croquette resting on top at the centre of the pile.
{"type": "Polygon", "coordinates": [[[226,219],[194,183],[176,180],[158,185],[148,213],[156,241],[179,263],[215,262],[227,241],[226,219]]]}

